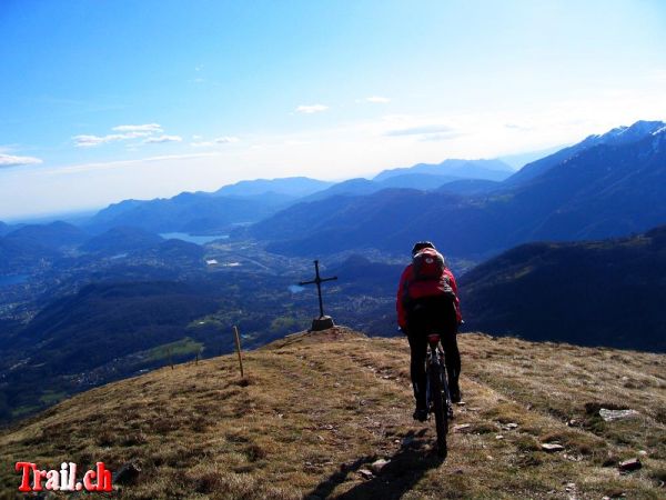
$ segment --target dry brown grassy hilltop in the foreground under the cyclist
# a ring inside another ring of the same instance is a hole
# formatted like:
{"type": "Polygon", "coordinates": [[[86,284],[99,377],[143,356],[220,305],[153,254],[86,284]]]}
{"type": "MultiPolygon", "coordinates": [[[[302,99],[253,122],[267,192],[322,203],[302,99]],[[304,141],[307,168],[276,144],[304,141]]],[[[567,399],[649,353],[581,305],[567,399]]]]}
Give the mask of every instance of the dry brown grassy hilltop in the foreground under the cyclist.
{"type": "Polygon", "coordinates": [[[245,353],[245,379],[228,356],[64,401],[0,433],[0,488],[13,498],[13,463],[34,460],[134,463],[115,484],[129,499],[662,496],[663,356],[482,334],[461,347],[466,406],[445,461],[432,422],[411,419],[406,341],[334,329],[245,353]],[[638,413],[605,422],[599,408],[638,413]],[[564,451],[542,450],[553,442],[564,451]],[[643,469],[620,474],[638,450],[643,469]]]}

